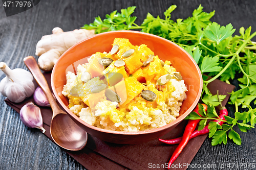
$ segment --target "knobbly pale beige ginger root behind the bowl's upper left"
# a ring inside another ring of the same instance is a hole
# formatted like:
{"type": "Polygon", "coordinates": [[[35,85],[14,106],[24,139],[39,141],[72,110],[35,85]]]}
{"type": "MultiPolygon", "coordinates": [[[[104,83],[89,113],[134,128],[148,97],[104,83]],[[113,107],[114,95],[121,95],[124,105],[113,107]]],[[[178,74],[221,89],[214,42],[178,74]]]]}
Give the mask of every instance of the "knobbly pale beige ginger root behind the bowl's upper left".
{"type": "Polygon", "coordinates": [[[91,37],[95,30],[74,30],[63,32],[61,28],[54,28],[51,35],[42,36],[36,44],[35,55],[38,65],[44,71],[52,70],[58,58],[74,44],[91,37]]]}

